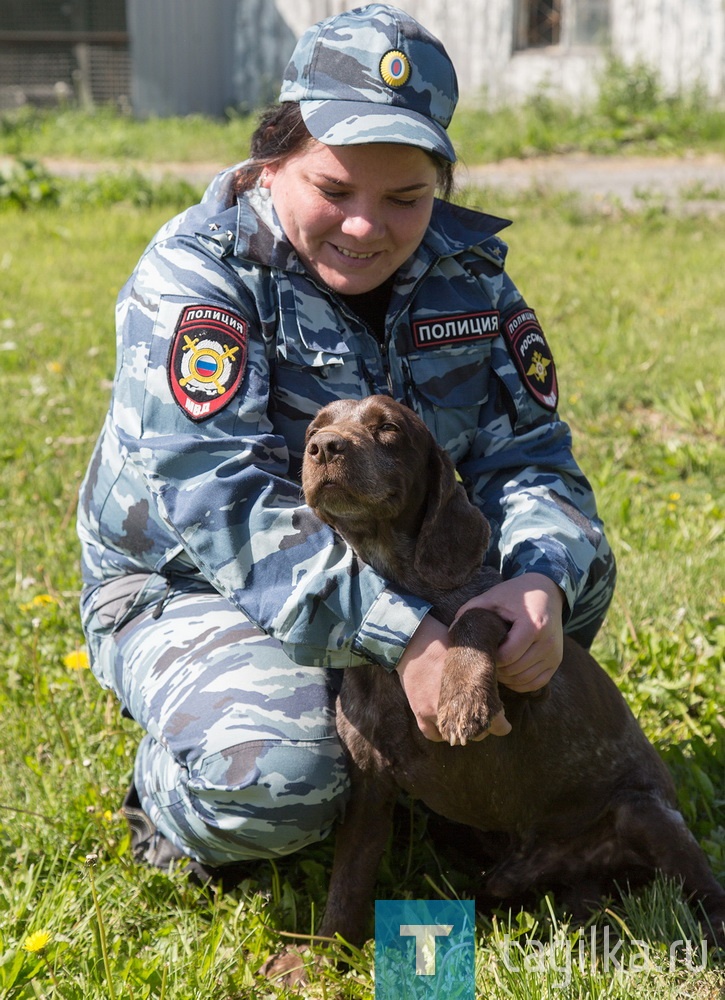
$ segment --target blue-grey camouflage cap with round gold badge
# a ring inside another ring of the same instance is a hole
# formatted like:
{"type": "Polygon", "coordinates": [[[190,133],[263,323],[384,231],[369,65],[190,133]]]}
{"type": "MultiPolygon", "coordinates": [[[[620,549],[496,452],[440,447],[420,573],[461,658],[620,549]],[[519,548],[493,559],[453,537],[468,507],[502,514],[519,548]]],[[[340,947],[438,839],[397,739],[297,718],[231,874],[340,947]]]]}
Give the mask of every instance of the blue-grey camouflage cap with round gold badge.
{"type": "Polygon", "coordinates": [[[328,146],[392,142],[454,163],[446,129],[458,100],[453,63],[410,14],[373,3],[328,17],[300,38],[280,101],[298,101],[328,146]]]}

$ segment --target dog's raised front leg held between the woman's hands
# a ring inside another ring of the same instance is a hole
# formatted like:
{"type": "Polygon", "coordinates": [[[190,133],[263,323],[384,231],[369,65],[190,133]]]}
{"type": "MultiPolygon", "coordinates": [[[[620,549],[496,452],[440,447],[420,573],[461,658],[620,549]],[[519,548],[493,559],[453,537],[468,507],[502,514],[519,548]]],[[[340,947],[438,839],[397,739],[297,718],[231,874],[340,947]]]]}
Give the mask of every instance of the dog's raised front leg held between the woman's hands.
{"type": "Polygon", "coordinates": [[[471,608],[451,626],[438,701],[438,729],[451,746],[481,736],[503,710],[495,655],[505,634],[503,619],[484,608],[471,608]]]}

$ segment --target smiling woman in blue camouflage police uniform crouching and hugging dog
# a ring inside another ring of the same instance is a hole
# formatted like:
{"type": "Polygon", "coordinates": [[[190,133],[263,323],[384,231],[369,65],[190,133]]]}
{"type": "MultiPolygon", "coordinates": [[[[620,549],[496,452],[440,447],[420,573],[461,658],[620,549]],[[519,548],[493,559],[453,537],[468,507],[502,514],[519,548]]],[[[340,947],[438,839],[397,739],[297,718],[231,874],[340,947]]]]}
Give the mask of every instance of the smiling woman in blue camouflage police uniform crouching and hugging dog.
{"type": "MultiPolygon", "coordinates": [[[[441,44],[385,4],[299,41],[251,157],[152,240],[118,303],[109,414],[81,491],[93,669],[145,730],[137,857],[202,873],[324,837],[347,792],[337,671],[395,670],[422,732],[446,629],[304,506],[304,432],[339,397],[425,420],[489,518],[511,622],[500,680],[543,686],[590,645],[614,562],[556,414],[507,223],[451,187],[441,44]]],[[[492,732],[504,734],[505,719],[492,732]]]]}

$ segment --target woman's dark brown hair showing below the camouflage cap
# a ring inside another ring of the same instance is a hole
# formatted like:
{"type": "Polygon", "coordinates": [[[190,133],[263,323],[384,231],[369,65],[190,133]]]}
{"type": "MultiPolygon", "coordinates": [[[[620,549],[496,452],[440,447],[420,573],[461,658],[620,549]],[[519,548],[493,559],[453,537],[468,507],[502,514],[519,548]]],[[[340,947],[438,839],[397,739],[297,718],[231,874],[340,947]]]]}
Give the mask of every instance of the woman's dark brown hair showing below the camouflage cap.
{"type": "MultiPolygon", "coordinates": [[[[252,135],[249,159],[235,177],[234,194],[239,196],[254,187],[268,164],[279,163],[314,141],[296,101],[275,104],[263,111],[252,135]]],[[[435,153],[428,155],[438,171],[440,194],[448,201],[453,193],[453,164],[435,153]]]]}

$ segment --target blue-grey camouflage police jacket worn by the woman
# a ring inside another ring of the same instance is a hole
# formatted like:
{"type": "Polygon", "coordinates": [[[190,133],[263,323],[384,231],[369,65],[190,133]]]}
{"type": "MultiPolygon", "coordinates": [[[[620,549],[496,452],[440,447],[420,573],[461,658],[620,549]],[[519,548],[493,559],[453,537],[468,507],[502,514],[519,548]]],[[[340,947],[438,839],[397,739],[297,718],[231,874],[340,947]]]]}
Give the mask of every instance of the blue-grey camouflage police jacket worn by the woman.
{"type": "Polygon", "coordinates": [[[305,428],[388,393],[449,452],[492,524],[490,559],[569,607],[601,525],[556,413],[556,374],[504,270],[508,223],[436,202],[395,278],[383,342],[304,269],[234,168],[147,247],[117,306],[109,413],[81,487],[82,616],[129,574],[210,584],[297,662],[391,669],[428,605],[396,593],[305,507],[305,428]]]}

